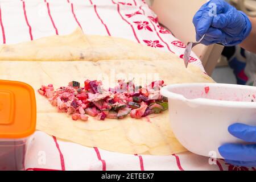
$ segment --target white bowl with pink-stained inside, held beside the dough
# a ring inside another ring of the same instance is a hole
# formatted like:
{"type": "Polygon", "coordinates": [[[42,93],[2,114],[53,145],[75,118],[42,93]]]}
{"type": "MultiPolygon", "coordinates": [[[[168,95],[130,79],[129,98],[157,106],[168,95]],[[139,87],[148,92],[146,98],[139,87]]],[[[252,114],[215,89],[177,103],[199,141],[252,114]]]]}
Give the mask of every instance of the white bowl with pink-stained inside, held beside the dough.
{"type": "Polygon", "coordinates": [[[228,133],[240,122],[256,125],[256,87],[232,84],[173,84],[161,94],[168,98],[175,137],[189,151],[222,158],[218,147],[243,143],[228,133]],[[254,102],[253,102],[254,101],[254,102]]]}

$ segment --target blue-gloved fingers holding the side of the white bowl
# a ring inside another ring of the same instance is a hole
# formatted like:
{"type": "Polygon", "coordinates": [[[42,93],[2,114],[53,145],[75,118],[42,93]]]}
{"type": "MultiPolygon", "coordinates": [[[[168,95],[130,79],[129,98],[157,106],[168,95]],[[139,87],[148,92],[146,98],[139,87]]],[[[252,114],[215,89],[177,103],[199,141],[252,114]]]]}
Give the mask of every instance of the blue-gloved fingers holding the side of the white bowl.
{"type": "Polygon", "coordinates": [[[255,144],[224,144],[218,148],[221,156],[226,162],[236,166],[255,167],[256,166],[256,126],[236,123],[228,128],[230,134],[240,138],[245,142],[255,144]]]}

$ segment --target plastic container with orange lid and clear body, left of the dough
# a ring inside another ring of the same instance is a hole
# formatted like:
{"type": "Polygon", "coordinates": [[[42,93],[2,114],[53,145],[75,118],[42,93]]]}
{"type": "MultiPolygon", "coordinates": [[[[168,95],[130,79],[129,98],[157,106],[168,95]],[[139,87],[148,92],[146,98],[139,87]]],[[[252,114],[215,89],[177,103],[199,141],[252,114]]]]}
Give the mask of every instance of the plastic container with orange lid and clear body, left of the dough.
{"type": "Polygon", "coordinates": [[[0,170],[23,170],[28,139],[35,132],[34,89],[0,80],[0,170]]]}

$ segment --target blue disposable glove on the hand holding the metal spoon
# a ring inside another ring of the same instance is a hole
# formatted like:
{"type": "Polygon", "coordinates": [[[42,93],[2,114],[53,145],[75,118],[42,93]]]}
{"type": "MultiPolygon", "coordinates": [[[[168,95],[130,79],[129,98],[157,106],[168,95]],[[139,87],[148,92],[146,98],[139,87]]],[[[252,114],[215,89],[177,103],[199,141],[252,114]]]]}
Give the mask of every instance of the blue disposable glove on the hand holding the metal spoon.
{"type": "Polygon", "coordinates": [[[205,3],[195,14],[193,24],[196,27],[196,40],[206,33],[201,43],[207,46],[214,43],[234,46],[245,40],[251,32],[251,22],[247,15],[224,0],[205,3]],[[213,16],[212,11],[214,5],[217,7],[216,16],[213,16]]]}

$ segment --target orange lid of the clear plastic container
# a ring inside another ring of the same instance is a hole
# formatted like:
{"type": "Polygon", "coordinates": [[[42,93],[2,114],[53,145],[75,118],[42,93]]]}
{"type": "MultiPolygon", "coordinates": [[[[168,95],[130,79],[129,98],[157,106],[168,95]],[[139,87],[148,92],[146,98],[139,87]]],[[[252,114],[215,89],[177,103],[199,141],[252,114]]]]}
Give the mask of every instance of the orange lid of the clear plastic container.
{"type": "Polygon", "coordinates": [[[23,82],[0,80],[0,139],[28,137],[35,126],[34,89],[23,82]]]}

